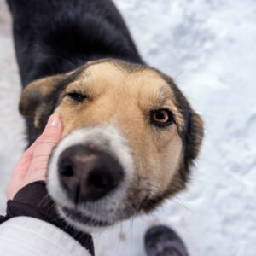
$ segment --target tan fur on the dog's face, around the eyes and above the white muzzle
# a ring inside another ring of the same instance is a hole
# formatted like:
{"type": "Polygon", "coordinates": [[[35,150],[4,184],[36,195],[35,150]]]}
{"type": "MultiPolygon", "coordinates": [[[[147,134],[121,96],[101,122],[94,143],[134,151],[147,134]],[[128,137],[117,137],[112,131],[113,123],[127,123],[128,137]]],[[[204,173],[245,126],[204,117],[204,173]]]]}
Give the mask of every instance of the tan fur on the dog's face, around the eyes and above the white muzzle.
{"type": "MultiPolygon", "coordinates": [[[[131,143],[136,176],[148,177],[153,186],[167,189],[181,158],[182,142],[177,129],[183,129],[183,119],[171,87],[158,73],[151,69],[129,73],[113,63],[103,62],[86,69],[61,96],[55,113],[63,120],[63,137],[88,125],[114,125],[131,143]],[[88,98],[79,104],[72,102],[65,95],[73,90],[88,98]],[[167,129],[151,125],[152,108],[170,108],[177,125],[167,129]]],[[[154,189],[154,194],[158,192],[154,189]]]]}

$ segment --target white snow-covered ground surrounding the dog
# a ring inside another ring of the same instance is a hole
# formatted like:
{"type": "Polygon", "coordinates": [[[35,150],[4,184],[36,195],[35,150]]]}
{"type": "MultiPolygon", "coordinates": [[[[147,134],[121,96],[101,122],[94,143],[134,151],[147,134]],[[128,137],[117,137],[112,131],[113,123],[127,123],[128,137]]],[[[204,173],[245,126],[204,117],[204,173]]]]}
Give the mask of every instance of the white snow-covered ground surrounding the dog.
{"type": "MultiPolygon", "coordinates": [[[[207,135],[189,189],[150,216],[95,236],[97,256],[143,256],[149,225],[171,225],[192,256],[256,255],[256,1],[115,0],[138,49],[172,75],[207,135]]],[[[10,17],[0,0],[0,211],[24,147],[10,17]]]]}

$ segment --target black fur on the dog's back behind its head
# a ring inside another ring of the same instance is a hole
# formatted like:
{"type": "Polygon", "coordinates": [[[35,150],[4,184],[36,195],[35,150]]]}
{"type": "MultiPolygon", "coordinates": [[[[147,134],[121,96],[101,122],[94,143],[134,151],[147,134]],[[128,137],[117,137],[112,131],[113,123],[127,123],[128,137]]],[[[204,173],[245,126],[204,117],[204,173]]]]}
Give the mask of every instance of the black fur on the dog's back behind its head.
{"type": "Polygon", "coordinates": [[[87,61],[143,64],[111,0],[8,0],[23,87],[87,61]]]}

